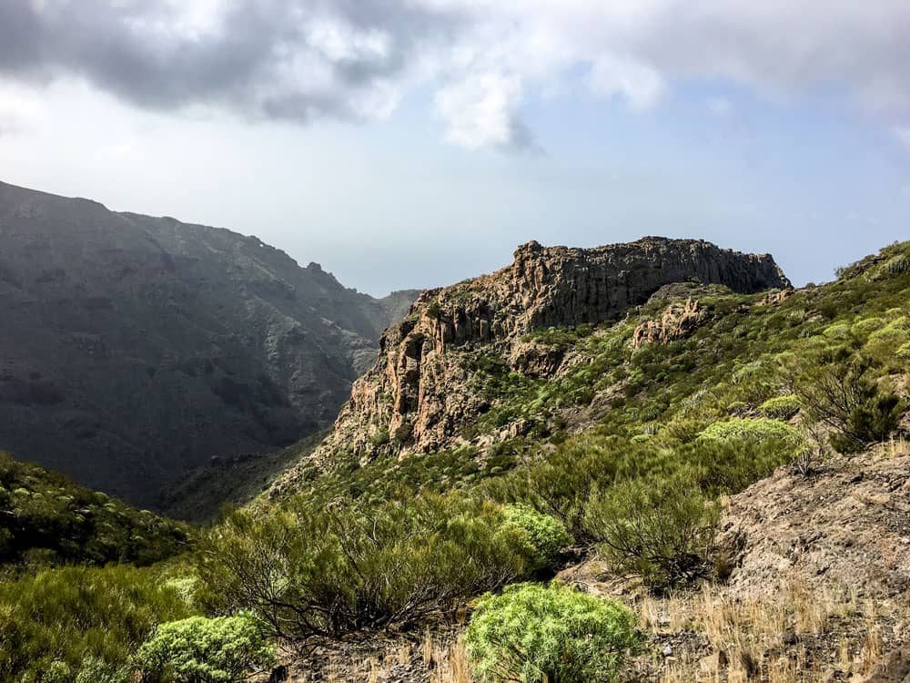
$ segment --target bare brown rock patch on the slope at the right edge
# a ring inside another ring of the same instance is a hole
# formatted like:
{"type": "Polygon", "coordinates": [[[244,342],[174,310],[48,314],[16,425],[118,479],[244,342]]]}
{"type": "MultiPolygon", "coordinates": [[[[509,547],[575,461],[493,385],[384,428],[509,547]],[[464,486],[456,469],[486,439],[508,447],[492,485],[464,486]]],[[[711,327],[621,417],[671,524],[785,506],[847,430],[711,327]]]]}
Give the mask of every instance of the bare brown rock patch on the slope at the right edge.
{"type": "Polygon", "coordinates": [[[780,576],[854,586],[860,596],[910,587],[910,454],[837,458],[812,479],[787,468],[730,499],[722,545],[735,546],[730,589],[760,595],[780,576]],[[863,474],[858,477],[857,474],[863,474]]]}

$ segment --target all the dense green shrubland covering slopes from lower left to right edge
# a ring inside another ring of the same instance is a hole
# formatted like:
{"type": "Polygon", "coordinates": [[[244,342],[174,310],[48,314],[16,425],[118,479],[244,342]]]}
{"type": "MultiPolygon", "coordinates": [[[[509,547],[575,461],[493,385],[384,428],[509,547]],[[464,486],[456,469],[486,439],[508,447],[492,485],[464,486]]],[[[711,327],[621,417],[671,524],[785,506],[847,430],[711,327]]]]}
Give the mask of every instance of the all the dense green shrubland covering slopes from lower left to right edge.
{"type": "MultiPolygon", "coordinates": [[[[723,578],[723,494],[784,464],[809,474],[810,457],[861,450],[898,425],[906,262],[910,244],[897,245],[782,301],[714,288],[701,298],[710,321],[668,344],[629,344],[666,301],[612,325],[538,331],[533,342],[581,359],[556,379],[511,372],[493,347],[453,351],[490,401],[465,436],[516,420],[525,433],[484,453],[465,443],[362,466],[339,456],[344,466],[314,467],[296,497],[257,501],[202,533],[193,562],[0,584],[0,678],[234,680],[268,660],[262,637],[422,627],[489,594],[468,630],[481,680],[609,680],[637,642],[632,617],[558,585],[506,586],[545,581],[568,546],[658,592],[723,578]]],[[[55,562],[138,563],[183,541],[100,494],[39,490],[34,475],[8,471],[0,460],[0,511],[17,521],[0,527],[0,552],[19,566],[34,548],[55,562]]]]}

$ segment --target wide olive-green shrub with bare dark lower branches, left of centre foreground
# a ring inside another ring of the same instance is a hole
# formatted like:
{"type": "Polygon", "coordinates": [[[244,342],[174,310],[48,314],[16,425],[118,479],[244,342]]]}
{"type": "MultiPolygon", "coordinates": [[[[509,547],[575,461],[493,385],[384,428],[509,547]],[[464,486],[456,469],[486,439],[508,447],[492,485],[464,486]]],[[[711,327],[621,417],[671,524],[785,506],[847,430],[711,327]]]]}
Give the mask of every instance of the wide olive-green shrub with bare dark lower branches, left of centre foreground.
{"type": "Polygon", "coordinates": [[[452,612],[525,575],[527,533],[501,506],[423,494],[367,508],[302,499],[239,510],[202,544],[208,604],[281,637],[338,637],[452,612]]]}

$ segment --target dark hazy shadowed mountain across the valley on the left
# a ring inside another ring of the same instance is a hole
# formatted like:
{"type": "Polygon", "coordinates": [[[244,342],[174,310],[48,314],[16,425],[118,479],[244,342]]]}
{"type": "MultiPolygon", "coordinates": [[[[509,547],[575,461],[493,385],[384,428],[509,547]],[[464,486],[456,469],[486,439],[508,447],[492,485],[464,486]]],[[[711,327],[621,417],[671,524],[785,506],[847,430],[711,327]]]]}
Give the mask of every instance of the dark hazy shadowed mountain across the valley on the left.
{"type": "Polygon", "coordinates": [[[0,448],[156,508],[190,468],[329,424],[416,294],[0,183],[0,448]]]}

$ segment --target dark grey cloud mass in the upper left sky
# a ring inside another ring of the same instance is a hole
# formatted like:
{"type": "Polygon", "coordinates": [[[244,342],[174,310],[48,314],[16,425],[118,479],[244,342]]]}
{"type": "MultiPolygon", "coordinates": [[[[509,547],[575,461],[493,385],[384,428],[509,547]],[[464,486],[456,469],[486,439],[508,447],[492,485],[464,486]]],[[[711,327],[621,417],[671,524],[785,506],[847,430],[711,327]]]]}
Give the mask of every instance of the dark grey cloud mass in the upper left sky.
{"type": "Polygon", "coordinates": [[[358,117],[353,98],[399,75],[420,39],[444,39],[459,21],[451,12],[406,0],[238,0],[218,30],[187,36],[167,30],[177,15],[160,0],[51,0],[38,6],[0,2],[0,74],[33,80],[83,76],[140,107],[214,103],[251,117],[301,121],[358,117]],[[318,18],[381,31],[389,49],[329,55],[306,30],[318,18]],[[329,83],[288,76],[288,61],[298,58],[326,70],[329,83]]]}

